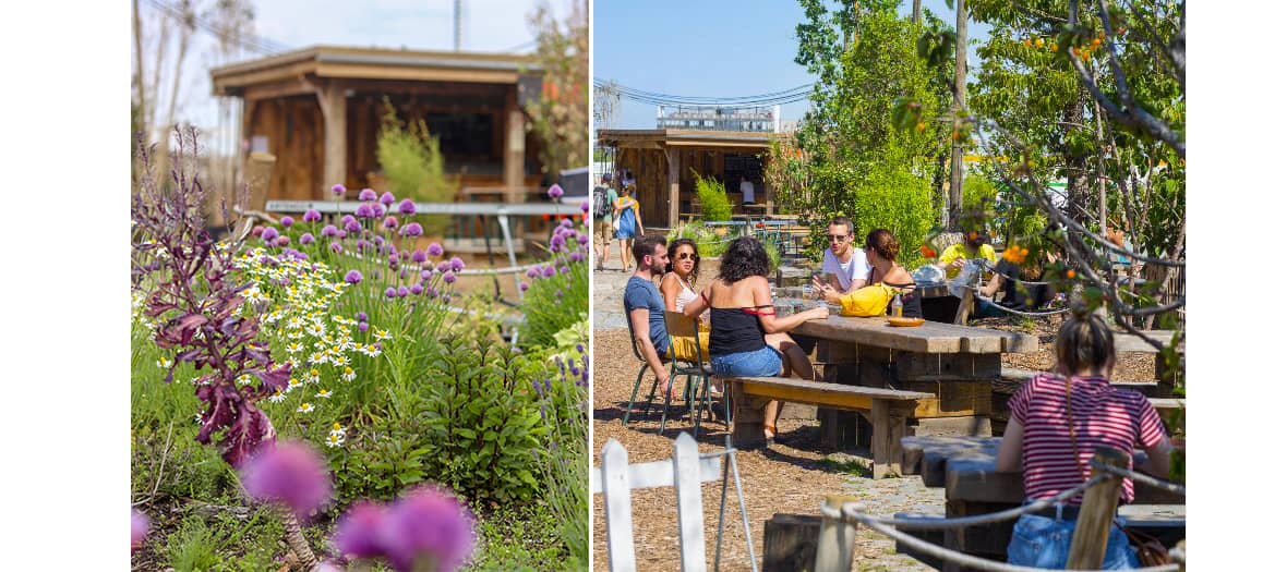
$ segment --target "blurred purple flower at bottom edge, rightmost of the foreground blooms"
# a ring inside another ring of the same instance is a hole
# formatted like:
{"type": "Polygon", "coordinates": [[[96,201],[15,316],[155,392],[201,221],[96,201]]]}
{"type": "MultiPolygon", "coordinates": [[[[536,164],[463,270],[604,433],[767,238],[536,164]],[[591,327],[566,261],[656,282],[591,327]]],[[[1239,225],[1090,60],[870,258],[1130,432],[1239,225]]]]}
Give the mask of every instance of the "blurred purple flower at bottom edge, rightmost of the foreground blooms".
{"type": "Polygon", "coordinates": [[[474,551],[474,517],[445,490],[423,486],[395,501],[381,527],[381,544],[398,569],[430,559],[454,571],[474,551]]]}

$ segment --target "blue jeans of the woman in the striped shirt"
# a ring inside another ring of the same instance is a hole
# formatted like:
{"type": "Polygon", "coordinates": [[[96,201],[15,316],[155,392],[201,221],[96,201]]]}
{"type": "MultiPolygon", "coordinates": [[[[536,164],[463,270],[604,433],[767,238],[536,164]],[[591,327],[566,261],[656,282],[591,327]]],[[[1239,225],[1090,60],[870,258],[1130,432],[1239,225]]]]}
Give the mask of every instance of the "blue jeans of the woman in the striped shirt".
{"type": "MultiPolygon", "coordinates": [[[[1072,546],[1072,531],[1076,527],[1076,518],[1066,517],[1055,521],[1024,514],[1014,523],[1014,533],[1006,549],[1006,562],[1033,568],[1062,569],[1068,564],[1068,549],[1072,546]]],[[[1131,548],[1126,533],[1116,526],[1108,531],[1108,548],[1104,550],[1102,568],[1139,568],[1135,549],[1131,548]]]]}

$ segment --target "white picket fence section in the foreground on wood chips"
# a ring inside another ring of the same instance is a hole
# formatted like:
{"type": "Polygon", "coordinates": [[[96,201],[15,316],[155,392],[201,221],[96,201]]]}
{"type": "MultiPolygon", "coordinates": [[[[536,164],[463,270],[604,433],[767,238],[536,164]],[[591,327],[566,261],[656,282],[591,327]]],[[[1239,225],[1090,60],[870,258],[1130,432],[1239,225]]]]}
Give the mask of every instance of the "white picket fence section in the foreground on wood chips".
{"type": "Polygon", "coordinates": [[[755,546],[750,537],[750,522],[746,518],[746,504],[741,495],[741,478],[737,474],[736,449],[726,446],[722,451],[699,454],[698,442],[689,433],[680,433],[674,440],[674,456],[668,460],[629,464],[625,447],[616,440],[607,440],[602,450],[602,465],[591,473],[591,491],[604,495],[604,517],[607,521],[607,562],[613,572],[633,572],[634,563],[634,524],[631,515],[631,490],[669,487],[676,491],[680,506],[680,555],[685,572],[707,569],[705,526],[701,512],[701,483],[723,482],[719,499],[719,524],[716,541],[714,569],[719,569],[719,549],[723,544],[725,501],[728,491],[728,474],[732,472],[737,491],[737,504],[741,509],[741,522],[746,535],[746,550],[750,554],[750,568],[758,571],[755,546]],[[728,463],[722,463],[723,458],[728,463]]]}

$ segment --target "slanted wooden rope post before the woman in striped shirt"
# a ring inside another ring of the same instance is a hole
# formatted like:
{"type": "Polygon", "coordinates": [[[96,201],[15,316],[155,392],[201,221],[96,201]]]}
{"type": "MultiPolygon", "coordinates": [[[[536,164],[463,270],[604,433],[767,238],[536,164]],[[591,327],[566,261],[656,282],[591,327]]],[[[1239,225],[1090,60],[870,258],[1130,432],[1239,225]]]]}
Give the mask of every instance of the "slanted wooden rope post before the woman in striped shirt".
{"type": "MultiPolygon", "coordinates": [[[[1109,447],[1097,447],[1094,464],[1125,469],[1130,458],[1125,451],[1109,447]]],[[[1072,548],[1068,550],[1068,569],[1099,569],[1108,548],[1108,532],[1117,515],[1117,495],[1121,492],[1121,477],[1091,465],[1091,477],[1104,474],[1104,479],[1091,485],[1081,496],[1081,510],[1077,514],[1077,528],[1072,532],[1072,548]]]]}

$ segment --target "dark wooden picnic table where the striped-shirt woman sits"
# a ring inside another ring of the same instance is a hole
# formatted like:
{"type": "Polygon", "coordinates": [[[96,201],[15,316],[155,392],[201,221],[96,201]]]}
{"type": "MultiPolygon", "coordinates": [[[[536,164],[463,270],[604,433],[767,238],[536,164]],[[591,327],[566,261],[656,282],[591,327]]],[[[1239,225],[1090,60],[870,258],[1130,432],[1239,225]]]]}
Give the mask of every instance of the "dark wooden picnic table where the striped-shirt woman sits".
{"type": "MultiPolygon", "coordinates": [[[[902,474],[920,474],[928,487],[942,487],[947,518],[987,514],[1023,503],[1023,473],[996,470],[1000,437],[903,437],[902,474]]],[[[1135,451],[1136,470],[1147,456],[1135,451]]],[[[1167,546],[1184,536],[1184,497],[1144,485],[1135,501],[1118,508],[1130,530],[1160,539],[1167,546]]],[[[918,533],[925,540],[981,557],[1004,557],[1013,522],[918,533]]]]}

